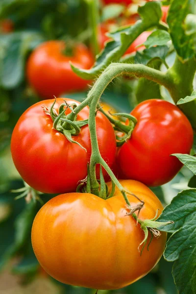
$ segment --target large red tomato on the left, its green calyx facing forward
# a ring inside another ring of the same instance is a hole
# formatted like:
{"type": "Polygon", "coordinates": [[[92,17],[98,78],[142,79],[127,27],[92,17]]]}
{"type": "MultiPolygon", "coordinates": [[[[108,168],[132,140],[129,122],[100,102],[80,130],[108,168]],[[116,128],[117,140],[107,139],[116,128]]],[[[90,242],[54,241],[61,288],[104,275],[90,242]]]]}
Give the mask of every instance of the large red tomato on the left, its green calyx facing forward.
{"type": "MultiPolygon", "coordinates": [[[[79,102],[65,99],[68,104],[79,102]]],[[[87,149],[70,143],[66,137],[53,129],[53,122],[43,111],[42,105],[49,107],[54,99],[40,101],[29,107],[16,124],[12,139],[11,152],[14,164],[25,182],[32,188],[44,193],[74,192],[78,181],[87,175],[87,163],[91,156],[89,127],[85,125],[73,140],[87,149]]],[[[55,109],[64,98],[57,98],[55,109]]],[[[66,111],[68,114],[70,110],[66,111]]],[[[85,107],[77,120],[86,120],[89,108],[85,107]]],[[[112,166],[115,161],[116,138],[108,119],[98,111],[96,116],[97,135],[100,153],[112,166]]]]}

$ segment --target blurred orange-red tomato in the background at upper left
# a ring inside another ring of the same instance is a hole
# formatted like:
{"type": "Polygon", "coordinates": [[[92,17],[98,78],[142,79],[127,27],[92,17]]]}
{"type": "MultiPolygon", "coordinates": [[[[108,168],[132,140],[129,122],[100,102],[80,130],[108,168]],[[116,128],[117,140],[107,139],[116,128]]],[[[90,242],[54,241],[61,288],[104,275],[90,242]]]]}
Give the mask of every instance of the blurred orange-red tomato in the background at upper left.
{"type": "Polygon", "coordinates": [[[76,67],[89,69],[94,63],[89,49],[78,44],[73,56],[63,54],[65,42],[49,41],[38,46],[27,61],[27,79],[43,98],[84,90],[89,81],[73,73],[69,61],[76,67]]]}

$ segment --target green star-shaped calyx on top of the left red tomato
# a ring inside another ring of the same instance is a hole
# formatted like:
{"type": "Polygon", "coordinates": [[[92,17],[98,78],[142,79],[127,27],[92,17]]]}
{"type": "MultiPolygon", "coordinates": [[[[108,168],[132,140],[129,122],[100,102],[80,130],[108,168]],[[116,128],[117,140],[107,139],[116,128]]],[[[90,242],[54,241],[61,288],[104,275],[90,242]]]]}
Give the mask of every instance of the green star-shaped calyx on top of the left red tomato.
{"type": "Polygon", "coordinates": [[[88,124],[88,120],[84,121],[76,121],[76,115],[73,115],[73,121],[68,119],[68,115],[66,115],[66,110],[69,108],[71,112],[74,114],[74,108],[77,106],[75,103],[69,105],[65,100],[59,107],[59,114],[54,109],[54,105],[56,102],[56,98],[49,108],[44,108],[44,111],[47,115],[49,115],[53,121],[53,128],[58,132],[65,135],[67,140],[71,143],[79,145],[86,152],[86,148],[81,146],[77,141],[72,139],[72,136],[77,136],[80,133],[81,127],[88,124]]]}

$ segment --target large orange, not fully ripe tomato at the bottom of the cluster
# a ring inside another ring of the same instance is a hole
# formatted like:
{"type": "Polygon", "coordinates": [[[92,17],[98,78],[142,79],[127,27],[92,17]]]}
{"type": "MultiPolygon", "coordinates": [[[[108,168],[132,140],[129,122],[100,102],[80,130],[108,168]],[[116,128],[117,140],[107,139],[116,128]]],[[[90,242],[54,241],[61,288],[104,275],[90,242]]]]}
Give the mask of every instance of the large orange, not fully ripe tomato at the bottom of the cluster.
{"type": "MultiPolygon", "coordinates": [[[[122,184],[145,201],[142,220],[162,211],[145,185],[131,180],[122,184]]],[[[128,198],[132,205],[138,203],[128,198]]],[[[125,217],[125,207],[118,190],[107,200],[78,193],[49,200],[38,212],[31,235],[41,266],[62,283],[104,290],[123,288],[146,275],[164,251],[166,234],[153,238],[149,251],[145,247],[141,255],[144,232],[132,217],[125,217]]]]}

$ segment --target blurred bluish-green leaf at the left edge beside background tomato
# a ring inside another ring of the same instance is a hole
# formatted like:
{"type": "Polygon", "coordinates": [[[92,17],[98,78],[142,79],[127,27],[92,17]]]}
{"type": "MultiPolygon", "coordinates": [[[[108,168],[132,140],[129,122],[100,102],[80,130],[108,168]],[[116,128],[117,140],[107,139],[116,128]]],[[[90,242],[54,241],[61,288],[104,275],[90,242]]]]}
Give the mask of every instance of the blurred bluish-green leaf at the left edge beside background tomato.
{"type": "Polygon", "coordinates": [[[3,47],[3,57],[0,62],[2,87],[12,89],[21,83],[26,54],[42,41],[42,36],[35,32],[16,32],[0,38],[3,47]]]}

